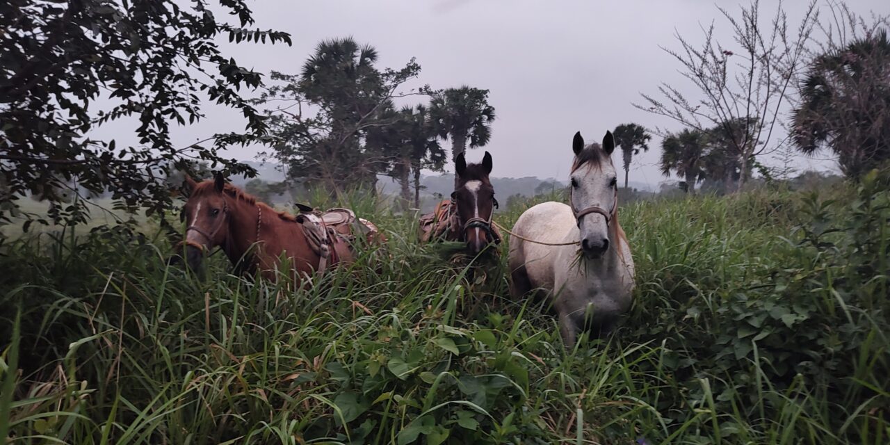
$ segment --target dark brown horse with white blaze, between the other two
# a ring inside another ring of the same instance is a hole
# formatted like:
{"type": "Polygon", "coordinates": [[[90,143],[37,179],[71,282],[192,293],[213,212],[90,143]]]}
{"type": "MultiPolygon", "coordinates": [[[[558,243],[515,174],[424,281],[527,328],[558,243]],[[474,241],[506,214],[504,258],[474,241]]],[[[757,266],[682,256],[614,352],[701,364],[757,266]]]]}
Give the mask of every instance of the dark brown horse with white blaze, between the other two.
{"type": "Polygon", "coordinates": [[[465,242],[472,255],[479,255],[491,243],[500,243],[500,233],[491,223],[491,216],[498,206],[495,189],[489,180],[491,167],[488,151],[481,164],[467,165],[464,154],[457,155],[457,187],[450,199],[441,201],[432,214],[420,218],[422,242],[433,239],[465,242]]]}

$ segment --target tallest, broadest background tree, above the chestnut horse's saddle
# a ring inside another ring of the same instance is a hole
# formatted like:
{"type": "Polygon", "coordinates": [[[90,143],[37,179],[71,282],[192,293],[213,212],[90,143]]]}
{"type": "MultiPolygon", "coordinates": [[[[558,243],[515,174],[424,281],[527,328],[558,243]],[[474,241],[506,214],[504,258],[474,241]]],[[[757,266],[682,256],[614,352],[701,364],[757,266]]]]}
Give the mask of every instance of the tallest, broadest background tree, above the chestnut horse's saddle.
{"type": "Polygon", "coordinates": [[[323,41],[299,76],[272,72],[279,81],[255,101],[274,104],[269,125],[279,143],[267,155],[287,166],[291,179],[331,193],[372,189],[377,174],[392,170],[401,150],[393,99],[417,77],[413,59],[404,68],[378,69],[377,52],[351,37],[323,41]]]}

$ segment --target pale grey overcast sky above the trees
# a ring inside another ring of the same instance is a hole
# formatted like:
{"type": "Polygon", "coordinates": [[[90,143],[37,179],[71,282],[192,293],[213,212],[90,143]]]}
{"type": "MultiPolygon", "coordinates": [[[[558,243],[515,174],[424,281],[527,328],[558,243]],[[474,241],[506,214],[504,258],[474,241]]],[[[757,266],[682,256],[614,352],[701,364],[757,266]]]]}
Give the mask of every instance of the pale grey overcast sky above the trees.
{"type": "MultiPolygon", "coordinates": [[[[785,2],[793,26],[804,0],[785,2]]],[[[379,53],[378,66],[401,68],[411,57],[421,65],[411,86],[471,85],[490,90],[497,111],[489,145],[467,154],[494,158],[495,176],[565,179],[571,137],[580,130],[587,142],[606,130],[635,122],[680,128],[663,117],[635,109],[639,93],[656,93],[660,81],[693,93],[677,74],[677,64],[659,45],[677,48],[674,34],[701,41],[701,26],[712,20],[719,39],[732,49],[732,36],[716,4],[695,0],[526,1],[526,0],[354,0],[248,1],[258,28],[290,33],[293,46],[225,44],[240,64],[261,72],[298,73],[322,39],[352,36],[379,53]]],[[[738,11],[739,3],[717,4],[738,11]]],[[[747,2],[746,2],[747,4],[747,2]]],[[[778,2],[761,2],[769,23],[778,2]]],[[[851,0],[854,12],[890,13],[886,0],[851,0]]],[[[207,109],[207,119],[177,129],[182,145],[215,132],[240,129],[237,113],[207,109]]],[[[635,158],[630,179],[656,186],[664,178],[656,166],[659,138],[635,158]]],[[[254,159],[255,149],[231,150],[254,159]]],[[[823,157],[824,158],[824,157],[823,157]]],[[[770,158],[763,161],[770,162],[770,158]]],[[[616,152],[615,164],[620,168],[616,152]]],[[[833,162],[800,159],[800,168],[829,169],[833,162]]],[[[453,171],[449,167],[449,171],[453,171]]]]}

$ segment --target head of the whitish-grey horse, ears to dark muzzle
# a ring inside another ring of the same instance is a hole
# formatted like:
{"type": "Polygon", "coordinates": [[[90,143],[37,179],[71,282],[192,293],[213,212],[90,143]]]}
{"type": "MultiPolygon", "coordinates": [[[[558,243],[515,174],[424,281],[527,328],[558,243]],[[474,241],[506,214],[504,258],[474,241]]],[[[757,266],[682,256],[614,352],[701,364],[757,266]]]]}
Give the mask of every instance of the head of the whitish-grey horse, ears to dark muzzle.
{"type": "Polygon", "coordinates": [[[609,224],[618,204],[618,177],[611,162],[615,141],[611,132],[606,132],[602,147],[597,144],[585,147],[584,139],[578,132],[572,149],[575,160],[570,174],[571,207],[576,215],[592,207],[601,209],[578,217],[581,250],[587,258],[601,258],[611,244],[609,224]]]}

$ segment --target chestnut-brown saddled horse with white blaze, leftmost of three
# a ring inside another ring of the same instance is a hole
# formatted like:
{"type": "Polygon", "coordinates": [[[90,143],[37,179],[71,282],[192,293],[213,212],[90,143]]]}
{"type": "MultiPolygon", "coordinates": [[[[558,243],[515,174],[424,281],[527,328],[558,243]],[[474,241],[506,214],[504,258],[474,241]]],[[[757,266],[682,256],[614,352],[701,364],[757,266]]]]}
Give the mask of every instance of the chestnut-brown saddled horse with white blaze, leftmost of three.
{"type": "Polygon", "coordinates": [[[192,269],[210,249],[222,247],[237,271],[259,268],[267,279],[275,278],[276,267],[286,258],[299,284],[303,275],[352,263],[355,232],[364,232],[369,242],[383,240],[374,224],[361,218],[355,223],[349,210],[315,214],[298,205],[303,213],[296,216],[278,212],[225,182],[222,174],[203,182],[186,176],[184,189],[189,199],[182,210],[188,223],[183,243],[192,269]]]}

